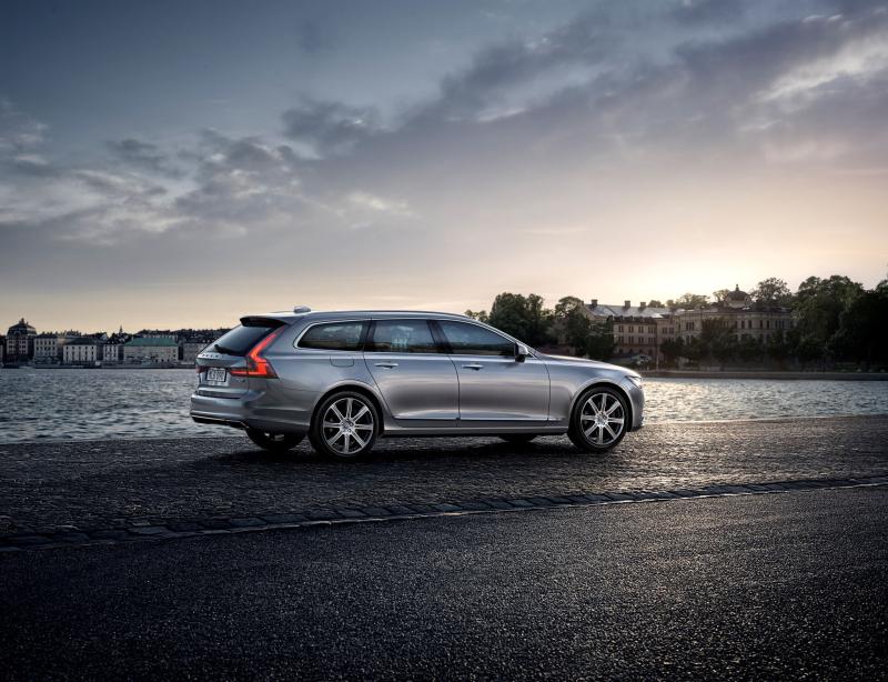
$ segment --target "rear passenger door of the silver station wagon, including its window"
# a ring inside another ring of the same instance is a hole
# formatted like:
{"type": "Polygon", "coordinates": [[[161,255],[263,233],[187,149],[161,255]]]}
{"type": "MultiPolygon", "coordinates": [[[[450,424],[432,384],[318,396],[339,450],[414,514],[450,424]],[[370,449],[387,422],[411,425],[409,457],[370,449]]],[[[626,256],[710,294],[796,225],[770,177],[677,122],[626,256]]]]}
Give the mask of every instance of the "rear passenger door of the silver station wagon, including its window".
{"type": "Polygon", "coordinates": [[[414,428],[456,425],[456,368],[438,348],[427,320],[374,320],[364,361],[396,420],[414,428]]]}

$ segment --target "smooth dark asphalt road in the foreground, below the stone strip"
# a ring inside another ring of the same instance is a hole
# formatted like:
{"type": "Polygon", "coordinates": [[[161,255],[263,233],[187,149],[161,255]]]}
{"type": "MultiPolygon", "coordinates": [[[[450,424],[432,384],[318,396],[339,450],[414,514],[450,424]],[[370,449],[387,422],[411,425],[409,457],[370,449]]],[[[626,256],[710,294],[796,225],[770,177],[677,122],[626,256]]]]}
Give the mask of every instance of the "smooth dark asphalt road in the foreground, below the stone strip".
{"type": "Polygon", "coordinates": [[[888,490],[0,556],[0,676],[885,678],[888,490]]]}

